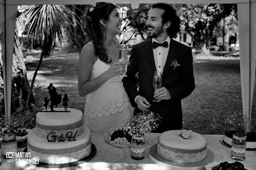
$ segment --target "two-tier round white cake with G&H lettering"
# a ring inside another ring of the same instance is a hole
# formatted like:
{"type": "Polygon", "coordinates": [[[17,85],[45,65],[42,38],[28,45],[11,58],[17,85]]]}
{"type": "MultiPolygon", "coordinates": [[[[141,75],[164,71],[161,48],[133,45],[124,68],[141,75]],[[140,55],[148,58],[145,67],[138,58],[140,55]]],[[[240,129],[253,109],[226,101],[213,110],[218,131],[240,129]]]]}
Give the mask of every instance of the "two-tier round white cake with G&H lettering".
{"type": "Polygon", "coordinates": [[[81,160],[91,153],[90,129],[83,126],[83,113],[76,109],[54,108],[63,112],[38,112],[36,129],[30,130],[27,151],[39,162],[63,164],[81,160]]]}

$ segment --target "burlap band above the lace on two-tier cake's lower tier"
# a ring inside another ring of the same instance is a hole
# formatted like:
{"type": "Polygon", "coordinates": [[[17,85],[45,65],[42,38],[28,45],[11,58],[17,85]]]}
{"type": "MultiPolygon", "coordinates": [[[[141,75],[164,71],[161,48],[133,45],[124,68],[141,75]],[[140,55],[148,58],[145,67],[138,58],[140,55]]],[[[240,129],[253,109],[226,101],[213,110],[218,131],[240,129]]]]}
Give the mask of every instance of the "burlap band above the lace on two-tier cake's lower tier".
{"type": "Polygon", "coordinates": [[[41,154],[65,154],[65,153],[69,153],[69,152],[77,152],[79,150],[82,150],[83,148],[86,148],[88,145],[90,145],[91,143],[91,138],[86,142],[86,143],[83,143],[82,145],[79,145],[79,146],[75,146],[75,147],[71,147],[71,148],[68,148],[68,142],[67,142],[67,148],[62,148],[62,149],[41,149],[41,148],[38,148],[38,147],[34,147],[32,146],[29,142],[27,143],[27,147],[28,149],[30,150],[36,150],[37,152],[41,153],[41,154]]]}

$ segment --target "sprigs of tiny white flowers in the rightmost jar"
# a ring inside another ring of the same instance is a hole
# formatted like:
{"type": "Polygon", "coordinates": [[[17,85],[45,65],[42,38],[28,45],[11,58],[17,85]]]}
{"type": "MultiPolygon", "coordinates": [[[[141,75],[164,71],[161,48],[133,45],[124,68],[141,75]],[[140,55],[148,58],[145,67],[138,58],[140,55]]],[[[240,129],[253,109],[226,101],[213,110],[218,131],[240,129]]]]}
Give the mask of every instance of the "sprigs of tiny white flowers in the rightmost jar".
{"type": "MultiPolygon", "coordinates": [[[[220,120],[213,118],[213,122],[213,128],[219,128],[220,120]]],[[[246,136],[250,131],[250,116],[244,115],[243,112],[229,113],[224,123],[231,127],[229,130],[236,130],[238,136],[246,136]]]]}

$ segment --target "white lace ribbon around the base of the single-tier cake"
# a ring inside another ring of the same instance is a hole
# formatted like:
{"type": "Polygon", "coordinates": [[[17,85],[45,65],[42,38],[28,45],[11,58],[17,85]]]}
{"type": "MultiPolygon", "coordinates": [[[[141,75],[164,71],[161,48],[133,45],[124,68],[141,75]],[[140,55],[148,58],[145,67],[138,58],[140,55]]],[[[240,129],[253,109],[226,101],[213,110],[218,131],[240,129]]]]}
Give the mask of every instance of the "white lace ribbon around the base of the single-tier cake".
{"type": "Polygon", "coordinates": [[[157,153],[162,156],[164,159],[179,162],[179,163],[191,163],[191,162],[199,162],[206,157],[207,148],[198,153],[175,153],[168,149],[164,149],[159,144],[157,144],[157,153]]]}

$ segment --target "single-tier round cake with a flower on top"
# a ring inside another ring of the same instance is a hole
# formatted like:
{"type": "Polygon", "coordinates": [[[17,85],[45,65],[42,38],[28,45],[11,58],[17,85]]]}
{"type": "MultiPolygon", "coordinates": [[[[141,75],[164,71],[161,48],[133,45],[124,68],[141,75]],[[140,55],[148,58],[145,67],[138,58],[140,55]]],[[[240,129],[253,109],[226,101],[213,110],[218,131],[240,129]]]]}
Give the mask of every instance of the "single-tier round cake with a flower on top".
{"type": "Polygon", "coordinates": [[[193,132],[188,138],[177,136],[178,130],[169,130],[158,139],[157,153],[164,159],[180,163],[199,162],[207,154],[206,139],[193,132]]]}

